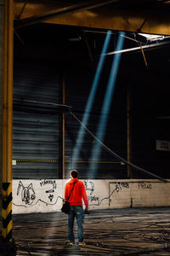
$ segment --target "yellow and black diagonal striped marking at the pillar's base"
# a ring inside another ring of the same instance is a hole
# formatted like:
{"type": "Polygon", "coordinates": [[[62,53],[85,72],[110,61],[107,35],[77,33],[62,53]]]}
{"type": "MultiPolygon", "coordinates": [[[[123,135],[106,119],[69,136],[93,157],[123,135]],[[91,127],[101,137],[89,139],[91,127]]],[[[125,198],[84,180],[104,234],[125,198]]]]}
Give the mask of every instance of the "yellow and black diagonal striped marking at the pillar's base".
{"type": "Polygon", "coordinates": [[[12,241],[12,183],[3,183],[3,230],[2,236],[5,241],[12,241]]]}

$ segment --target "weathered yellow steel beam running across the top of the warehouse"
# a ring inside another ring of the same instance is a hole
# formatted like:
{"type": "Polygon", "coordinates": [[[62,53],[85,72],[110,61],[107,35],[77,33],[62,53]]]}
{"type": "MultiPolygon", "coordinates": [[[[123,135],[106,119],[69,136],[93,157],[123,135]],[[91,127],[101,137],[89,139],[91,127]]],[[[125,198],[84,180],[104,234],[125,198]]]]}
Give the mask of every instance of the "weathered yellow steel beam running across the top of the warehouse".
{"type": "MultiPolygon", "coordinates": [[[[61,5],[58,1],[52,5],[46,1],[29,0],[22,13],[22,20],[18,20],[20,23],[16,24],[16,27],[28,26],[43,20],[43,22],[66,26],[170,35],[170,16],[168,14],[162,11],[154,13],[151,9],[150,13],[145,13],[140,10],[109,9],[106,6],[97,8],[97,4],[103,5],[111,2],[116,3],[116,0],[87,1],[88,4],[85,1],[86,6],[79,3],[68,7],[61,5]]],[[[22,7],[23,0],[14,1],[15,20],[17,20],[22,7]]]]}

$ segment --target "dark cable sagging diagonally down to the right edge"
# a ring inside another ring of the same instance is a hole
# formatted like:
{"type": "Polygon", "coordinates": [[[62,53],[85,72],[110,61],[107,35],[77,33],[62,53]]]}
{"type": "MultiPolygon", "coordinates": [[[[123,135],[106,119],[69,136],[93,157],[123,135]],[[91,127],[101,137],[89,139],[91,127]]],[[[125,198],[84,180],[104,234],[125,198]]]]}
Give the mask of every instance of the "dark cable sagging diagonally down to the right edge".
{"type": "Polygon", "coordinates": [[[77,116],[76,116],[74,113],[71,112],[71,108],[69,108],[69,109],[70,109],[71,115],[72,115],[75,119],[77,119],[77,121],[79,122],[79,124],[81,124],[81,125],[84,127],[84,129],[85,129],[86,131],[88,131],[88,133],[89,133],[92,137],[94,137],[94,139],[95,139],[99,144],[101,144],[101,146],[102,146],[103,148],[105,148],[105,150],[107,150],[110,154],[112,154],[116,159],[121,160],[122,163],[126,164],[127,166],[131,166],[131,167],[133,167],[134,169],[139,170],[140,172],[144,172],[144,173],[146,173],[146,174],[148,174],[148,175],[150,175],[150,176],[152,176],[152,177],[156,177],[157,179],[161,180],[162,182],[170,183],[169,181],[167,181],[167,180],[164,179],[163,177],[157,176],[156,174],[154,174],[154,173],[152,173],[152,172],[148,172],[148,171],[144,170],[144,168],[141,168],[141,167],[139,167],[139,166],[134,165],[133,163],[128,162],[127,160],[124,160],[121,156],[119,156],[118,154],[116,154],[115,152],[113,152],[113,151],[111,150],[111,148],[108,148],[104,143],[102,143],[102,142],[99,140],[99,138],[94,135],[94,133],[93,133],[92,131],[89,131],[89,130],[88,130],[88,128],[86,127],[86,125],[84,125],[84,124],[82,123],[82,121],[81,121],[80,119],[78,119],[77,116]]]}

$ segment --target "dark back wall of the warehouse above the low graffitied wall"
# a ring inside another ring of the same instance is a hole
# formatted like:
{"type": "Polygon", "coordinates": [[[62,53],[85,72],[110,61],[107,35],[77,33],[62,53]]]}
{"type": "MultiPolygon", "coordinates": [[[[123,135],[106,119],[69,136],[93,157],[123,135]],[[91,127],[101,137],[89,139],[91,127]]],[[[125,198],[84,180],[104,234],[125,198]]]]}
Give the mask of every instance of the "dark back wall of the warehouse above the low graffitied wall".
{"type": "MultiPolygon", "coordinates": [[[[65,104],[72,106],[73,113],[82,120],[105,34],[88,34],[94,56],[91,61],[83,39],[70,41],[75,30],[76,28],[71,26],[37,24],[20,29],[20,38],[25,44],[21,44],[19,38],[14,37],[13,159],[16,165],[13,166],[13,177],[17,180],[59,178],[61,108],[54,108],[48,103],[59,104],[59,81],[63,74],[65,104]]],[[[114,50],[116,34],[112,37],[108,51],[114,50]]],[[[125,47],[128,46],[126,40],[125,47]]],[[[127,160],[127,116],[130,114],[133,164],[160,177],[170,178],[170,151],[156,150],[156,140],[170,142],[170,92],[167,86],[169,61],[165,51],[160,50],[152,49],[147,52],[149,68],[144,66],[141,52],[122,55],[109,118],[104,120],[104,143],[127,160]],[[132,110],[129,113],[127,88],[132,91],[132,110]]],[[[112,60],[113,55],[108,55],[105,59],[93,108],[91,112],[88,109],[88,129],[95,135],[112,60]]],[[[84,179],[127,178],[127,166],[122,165],[122,161],[104,149],[91,163],[93,148],[97,143],[88,132],[85,132],[79,154],[73,155],[80,126],[77,120],[65,111],[65,178],[69,177],[73,168],[76,168],[84,179]]],[[[133,170],[132,178],[150,176],[133,170]]]]}

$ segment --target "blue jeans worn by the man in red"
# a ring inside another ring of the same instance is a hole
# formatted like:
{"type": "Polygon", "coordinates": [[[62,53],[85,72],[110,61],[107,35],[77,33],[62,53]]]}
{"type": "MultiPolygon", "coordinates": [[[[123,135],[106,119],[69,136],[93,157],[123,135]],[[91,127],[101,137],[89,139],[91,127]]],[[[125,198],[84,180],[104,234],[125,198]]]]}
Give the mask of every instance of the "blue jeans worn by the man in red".
{"type": "Polygon", "coordinates": [[[71,242],[75,242],[75,236],[73,232],[74,220],[77,218],[77,228],[78,228],[78,241],[83,241],[83,209],[82,206],[71,206],[71,211],[68,215],[68,236],[71,242]]]}

